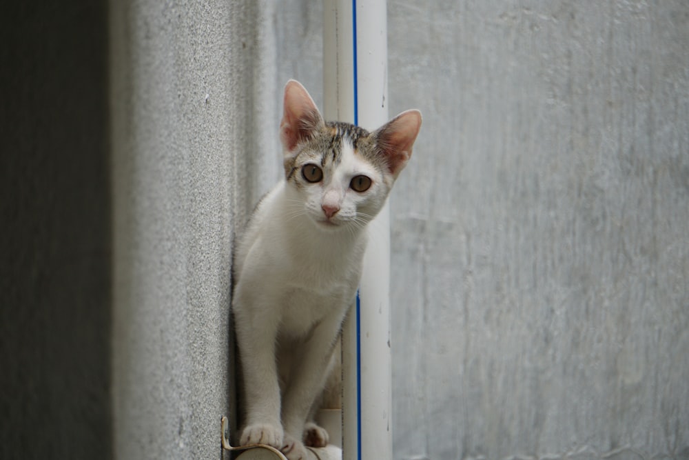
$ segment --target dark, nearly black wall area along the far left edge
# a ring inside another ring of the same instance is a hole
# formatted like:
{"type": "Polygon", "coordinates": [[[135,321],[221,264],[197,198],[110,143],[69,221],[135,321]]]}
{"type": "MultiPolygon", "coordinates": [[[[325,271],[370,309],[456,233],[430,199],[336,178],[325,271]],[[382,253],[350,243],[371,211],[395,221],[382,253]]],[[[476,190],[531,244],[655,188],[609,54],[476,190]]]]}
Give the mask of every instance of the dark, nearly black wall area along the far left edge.
{"type": "Polygon", "coordinates": [[[107,1],[0,6],[0,458],[110,459],[107,1]]]}

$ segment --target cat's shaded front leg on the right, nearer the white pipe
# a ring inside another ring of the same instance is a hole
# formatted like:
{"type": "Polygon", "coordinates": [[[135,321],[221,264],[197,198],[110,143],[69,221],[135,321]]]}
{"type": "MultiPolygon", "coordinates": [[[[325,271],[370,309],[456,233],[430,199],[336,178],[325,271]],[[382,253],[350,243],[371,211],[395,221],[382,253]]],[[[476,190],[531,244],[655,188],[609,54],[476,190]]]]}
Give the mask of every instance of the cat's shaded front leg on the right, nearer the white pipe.
{"type": "Polygon", "coordinates": [[[313,329],[311,337],[300,347],[300,359],[294,368],[282,405],[285,427],[285,446],[282,452],[289,460],[306,458],[306,448],[302,442],[305,434],[313,443],[322,446],[327,443],[327,432],[316,423],[309,423],[307,427],[306,421],[313,401],[325,383],[339,337],[340,323],[342,318],[335,315],[325,319],[313,329]]]}

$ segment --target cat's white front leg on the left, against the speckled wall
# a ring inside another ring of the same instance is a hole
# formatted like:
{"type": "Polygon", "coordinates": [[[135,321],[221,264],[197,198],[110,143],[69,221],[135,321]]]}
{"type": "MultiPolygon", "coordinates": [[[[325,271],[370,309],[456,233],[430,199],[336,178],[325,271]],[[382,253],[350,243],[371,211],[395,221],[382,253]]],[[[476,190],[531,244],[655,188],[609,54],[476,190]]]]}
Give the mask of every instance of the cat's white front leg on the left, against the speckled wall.
{"type": "Polygon", "coordinates": [[[278,319],[270,308],[261,308],[263,306],[255,298],[248,297],[237,290],[233,302],[246,406],[240,444],[262,443],[279,449],[283,446],[284,432],[280,423],[280,386],[275,362],[278,319]],[[249,301],[252,303],[243,303],[249,301]]]}

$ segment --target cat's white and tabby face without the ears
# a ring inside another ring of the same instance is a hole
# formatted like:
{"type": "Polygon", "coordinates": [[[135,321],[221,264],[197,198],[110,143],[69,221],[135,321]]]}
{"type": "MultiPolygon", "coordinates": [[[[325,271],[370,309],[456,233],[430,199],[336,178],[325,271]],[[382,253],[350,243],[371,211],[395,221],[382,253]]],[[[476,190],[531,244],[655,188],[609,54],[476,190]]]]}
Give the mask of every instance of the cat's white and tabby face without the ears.
{"type": "Polygon", "coordinates": [[[285,157],[294,215],[324,230],[358,229],[382,208],[393,177],[376,161],[371,134],[347,123],[327,123],[285,157]],[[294,207],[293,207],[294,206],[294,207]]]}

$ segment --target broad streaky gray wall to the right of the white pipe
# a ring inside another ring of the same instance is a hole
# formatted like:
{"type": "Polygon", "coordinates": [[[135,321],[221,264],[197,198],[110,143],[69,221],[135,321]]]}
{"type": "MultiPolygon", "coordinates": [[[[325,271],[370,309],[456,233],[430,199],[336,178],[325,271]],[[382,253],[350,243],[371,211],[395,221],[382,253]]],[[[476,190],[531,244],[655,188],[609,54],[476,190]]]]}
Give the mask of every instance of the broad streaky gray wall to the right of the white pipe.
{"type": "Polygon", "coordinates": [[[400,459],[689,458],[689,4],[389,2],[400,459]]]}

